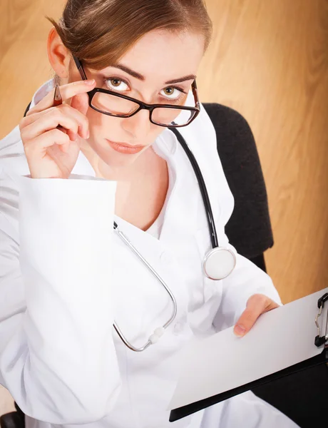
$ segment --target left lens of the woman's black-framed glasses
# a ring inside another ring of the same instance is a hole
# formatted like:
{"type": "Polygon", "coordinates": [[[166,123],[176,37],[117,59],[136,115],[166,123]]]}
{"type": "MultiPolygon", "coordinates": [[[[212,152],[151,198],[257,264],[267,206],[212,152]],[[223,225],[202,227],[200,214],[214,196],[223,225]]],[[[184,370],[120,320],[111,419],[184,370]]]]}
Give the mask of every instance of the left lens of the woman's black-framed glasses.
{"type": "Polygon", "coordinates": [[[110,93],[96,92],[93,96],[91,104],[104,113],[113,115],[131,114],[138,110],[139,105],[133,101],[125,100],[110,93]]]}

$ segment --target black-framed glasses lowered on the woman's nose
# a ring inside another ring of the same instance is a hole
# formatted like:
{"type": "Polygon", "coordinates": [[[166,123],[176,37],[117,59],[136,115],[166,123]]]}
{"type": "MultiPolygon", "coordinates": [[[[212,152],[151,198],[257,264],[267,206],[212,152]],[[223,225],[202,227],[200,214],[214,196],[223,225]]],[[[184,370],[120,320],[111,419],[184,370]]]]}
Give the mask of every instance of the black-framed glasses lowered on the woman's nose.
{"type": "MultiPolygon", "coordinates": [[[[81,61],[74,55],[73,59],[82,80],[87,80],[81,61]]],[[[194,106],[147,104],[136,98],[103,88],[94,88],[88,92],[89,106],[99,113],[118,118],[130,118],[140,110],[148,110],[151,123],[158,126],[180,128],[189,125],[200,113],[200,102],[195,80],[191,88],[195,101],[194,106]]]]}

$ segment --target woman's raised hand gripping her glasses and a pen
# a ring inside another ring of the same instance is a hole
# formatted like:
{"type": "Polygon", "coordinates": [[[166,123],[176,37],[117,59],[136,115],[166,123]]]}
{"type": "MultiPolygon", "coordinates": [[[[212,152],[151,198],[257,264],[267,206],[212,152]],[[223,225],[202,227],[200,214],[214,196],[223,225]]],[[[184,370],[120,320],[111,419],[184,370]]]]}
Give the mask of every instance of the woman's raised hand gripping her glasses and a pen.
{"type": "Polygon", "coordinates": [[[88,91],[93,81],[60,86],[63,104],[53,107],[53,91],[31,108],[21,122],[21,140],[31,178],[68,178],[80,152],[80,138],[88,138],[88,91]],[[71,103],[65,103],[71,98],[71,103]],[[65,129],[58,129],[61,126],[65,129]]]}

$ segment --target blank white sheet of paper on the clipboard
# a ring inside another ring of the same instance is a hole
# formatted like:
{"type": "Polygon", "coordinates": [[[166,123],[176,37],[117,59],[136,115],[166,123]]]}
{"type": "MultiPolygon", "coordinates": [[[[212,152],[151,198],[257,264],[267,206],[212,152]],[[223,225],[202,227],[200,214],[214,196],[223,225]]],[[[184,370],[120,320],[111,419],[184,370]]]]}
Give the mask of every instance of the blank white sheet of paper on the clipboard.
{"type": "MultiPolygon", "coordinates": [[[[266,312],[244,337],[236,337],[230,327],[185,347],[179,355],[180,378],[168,409],[240,387],[318,355],[323,346],[314,345],[314,319],[319,312],[317,301],[325,292],[328,287],[266,312]]],[[[319,317],[322,328],[326,312],[319,317]]],[[[322,330],[320,335],[324,335],[322,330]]]]}

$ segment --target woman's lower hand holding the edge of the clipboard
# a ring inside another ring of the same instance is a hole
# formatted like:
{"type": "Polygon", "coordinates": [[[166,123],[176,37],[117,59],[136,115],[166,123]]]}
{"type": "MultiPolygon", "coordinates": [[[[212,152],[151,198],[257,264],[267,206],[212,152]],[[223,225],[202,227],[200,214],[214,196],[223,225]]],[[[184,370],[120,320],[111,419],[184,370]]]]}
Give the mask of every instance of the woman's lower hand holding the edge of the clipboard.
{"type": "Polygon", "coordinates": [[[233,332],[236,336],[245,336],[255,324],[260,315],[268,312],[269,310],[279,307],[276,302],[262,294],[252,295],[247,300],[246,309],[242,312],[240,319],[236,322],[233,332]]]}

